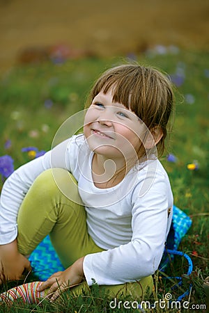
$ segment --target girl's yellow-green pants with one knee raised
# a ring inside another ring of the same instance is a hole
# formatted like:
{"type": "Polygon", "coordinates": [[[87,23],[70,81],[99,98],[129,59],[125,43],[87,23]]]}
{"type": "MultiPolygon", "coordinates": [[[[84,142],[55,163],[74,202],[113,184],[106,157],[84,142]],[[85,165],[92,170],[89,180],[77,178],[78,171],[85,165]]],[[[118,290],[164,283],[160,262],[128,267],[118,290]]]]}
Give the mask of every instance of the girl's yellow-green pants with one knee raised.
{"type": "MultiPolygon", "coordinates": [[[[30,255],[47,234],[65,268],[79,257],[104,250],[88,234],[86,211],[78,203],[82,200],[77,184],[67,170],[56,168],[42,172],[29,188],[17,216],[17,245],[22,255],[30,255]],[[65,195],[59,186],[65,188],[65,195]],[[73,193],[75,202],[70,200],[72,197],[67,195],[68,191],[73,193]]],[[[139,282],[103,287],[111,296],[119,293],[141,298],[147,289],[149,294],[152,292],[153,279],[148,276],[139,282]]],[[[75,293],[81,293],[82,289],[86,289],[86,283],[75,287],[75,293]]]]}

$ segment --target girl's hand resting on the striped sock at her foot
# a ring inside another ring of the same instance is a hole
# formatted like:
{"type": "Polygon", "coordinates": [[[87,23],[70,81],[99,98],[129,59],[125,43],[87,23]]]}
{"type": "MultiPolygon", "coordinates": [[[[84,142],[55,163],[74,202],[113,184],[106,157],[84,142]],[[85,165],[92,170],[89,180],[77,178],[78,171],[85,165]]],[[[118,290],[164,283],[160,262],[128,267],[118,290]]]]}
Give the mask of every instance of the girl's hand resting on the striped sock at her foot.
{"type": "Polygon", "coordinates": [[[45,282],[42,282],[38,291],[49,288],[47,295],[51,301],[54,301],[61,294],[61,291],[82,282],[84,279],[83,262],[84,257],[81,257],[65,271],[54,273],[45,282]]]}

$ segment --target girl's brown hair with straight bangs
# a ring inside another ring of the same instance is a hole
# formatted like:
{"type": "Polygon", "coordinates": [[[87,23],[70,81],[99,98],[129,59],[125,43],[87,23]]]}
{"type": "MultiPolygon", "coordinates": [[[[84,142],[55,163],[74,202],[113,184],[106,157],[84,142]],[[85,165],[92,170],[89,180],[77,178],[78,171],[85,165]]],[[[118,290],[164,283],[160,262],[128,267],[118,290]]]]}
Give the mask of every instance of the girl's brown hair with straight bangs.
{"type": "Polygon", "coordinates": [[[125,64],[111,68],[102,74],[91,89],[86,108],[100,93],[107,93],[114,86],[113,102],[122,103],[133,111],[151,131],[161,127],[163,136],[157,144],[157,152],[164,152],[167,125],[174,106],[173,86],[160,70],[138,64],[125,64]]]}

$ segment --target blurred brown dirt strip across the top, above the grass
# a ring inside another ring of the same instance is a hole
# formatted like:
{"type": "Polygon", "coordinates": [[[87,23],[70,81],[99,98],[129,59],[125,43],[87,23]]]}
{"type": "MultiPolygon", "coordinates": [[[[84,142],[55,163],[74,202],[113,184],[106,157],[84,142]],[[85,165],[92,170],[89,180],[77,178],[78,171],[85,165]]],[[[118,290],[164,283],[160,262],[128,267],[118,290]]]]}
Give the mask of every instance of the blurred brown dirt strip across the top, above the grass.
{"type": "Polygon", "coordinates": [[[0,0],[1,73],[31,47],[116,56],[154,45],[208,49],[208,39],[208,0],[0,0]]]}

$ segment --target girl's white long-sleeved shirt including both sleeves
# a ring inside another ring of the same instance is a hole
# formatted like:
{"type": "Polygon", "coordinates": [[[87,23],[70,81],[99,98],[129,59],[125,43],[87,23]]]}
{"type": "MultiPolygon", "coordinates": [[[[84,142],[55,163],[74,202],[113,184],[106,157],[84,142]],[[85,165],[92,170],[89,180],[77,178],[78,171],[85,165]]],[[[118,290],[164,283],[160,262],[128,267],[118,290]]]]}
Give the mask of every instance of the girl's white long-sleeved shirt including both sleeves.
{"type": "Polygon", "coordinates": [[[77,179],[88,233],[105,249],[84,257],[88,285],[140,280],[159,266],[171,225],[168,210],[173,207],[173,195],[167,172],[154,159],[134,166],[118,185],[97,188],[92,159],[93,152],[79,135],[15,170],[1,192],[0,244],[17,237],[18,210],[36,177],[48,168],[65,168],[77,179]]]}

